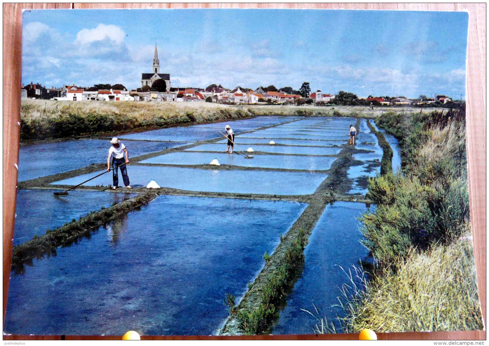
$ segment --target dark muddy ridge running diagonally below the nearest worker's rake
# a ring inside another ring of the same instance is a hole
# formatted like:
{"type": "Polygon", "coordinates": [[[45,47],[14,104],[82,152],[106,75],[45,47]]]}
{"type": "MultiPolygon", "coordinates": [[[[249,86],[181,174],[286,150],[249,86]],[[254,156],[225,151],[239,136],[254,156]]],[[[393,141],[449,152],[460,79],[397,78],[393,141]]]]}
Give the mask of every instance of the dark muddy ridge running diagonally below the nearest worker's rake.
{"type": "Polygon", "coordinates": [[[51,254],[59,246],[67,246],[80,237],[97,230],[100,226],[109,224],[112,220],[127,214],[129,211],[141,208],[156,198],[156,193],[148,192],[118,204],[110,208],[102,207],[99,211],[92,211],[79,220],[73,219],[55,230],[46,230],[46,233],[34,235],[31,240],[22,243],[13,249],[12,269],[22,270],[23,263],[45,254],[51,254]]]}

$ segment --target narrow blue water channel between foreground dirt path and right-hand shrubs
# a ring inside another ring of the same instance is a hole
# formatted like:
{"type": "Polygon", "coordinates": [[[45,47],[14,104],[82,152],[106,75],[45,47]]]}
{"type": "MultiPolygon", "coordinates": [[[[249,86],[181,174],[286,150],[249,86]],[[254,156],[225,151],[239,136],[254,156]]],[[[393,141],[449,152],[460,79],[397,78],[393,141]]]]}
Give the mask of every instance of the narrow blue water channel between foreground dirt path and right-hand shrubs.
{"type": "Polygon", "coordinates": [[[321,323],[301,309],[311,311],[319,319],[326,317],[339,327],[335,318],[345,313],[333,305],[338,304],[342,284],[350,284],[340,266],[348,272],[369,254],[360,243],[363,236],[356,220],[367,210],[365,204],[353,202],[335,202],[326,207],[309,237],[304,249],[304,270],[287,297],[287,306],[280,313],[273,334],[313,334],[314,325],[321,323]]]}

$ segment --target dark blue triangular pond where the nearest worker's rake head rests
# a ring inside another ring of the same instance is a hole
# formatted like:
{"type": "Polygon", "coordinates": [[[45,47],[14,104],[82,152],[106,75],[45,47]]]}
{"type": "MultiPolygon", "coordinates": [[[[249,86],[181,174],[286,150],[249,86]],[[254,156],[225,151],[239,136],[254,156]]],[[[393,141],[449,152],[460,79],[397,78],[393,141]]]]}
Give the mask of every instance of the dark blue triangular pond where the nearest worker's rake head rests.
{"type": "Polygon", "coordinates": [[[54,196],[54,190],[18,190],[14,231],[14,246],[54,230],[72,219],[78,220],[90,211],[111,207],[136,196],[135,193],[69,191],[68,196],[54,196]]]}

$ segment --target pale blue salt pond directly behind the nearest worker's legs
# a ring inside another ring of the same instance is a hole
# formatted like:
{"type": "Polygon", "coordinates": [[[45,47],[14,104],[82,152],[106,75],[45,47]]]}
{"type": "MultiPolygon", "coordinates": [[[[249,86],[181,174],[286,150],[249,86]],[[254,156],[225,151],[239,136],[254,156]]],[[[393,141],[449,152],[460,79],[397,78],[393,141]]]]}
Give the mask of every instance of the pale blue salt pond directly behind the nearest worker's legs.
{"type": "MultiPolygon", "coordinates": [[[[146,186],[154,179],[161,187],[182,190],[269,195],[308,195],[314,193],[319,184],[328,177],[325,173],[312,172],[228,171],[140,165],[129,165],[127,170],[133,187],[146,186]]],[[[52,184],[77,185],[102,172],[84,174],[52,184]]],[[[84,185],[111,184],[112,177],[104,175],[84,185]]]]}

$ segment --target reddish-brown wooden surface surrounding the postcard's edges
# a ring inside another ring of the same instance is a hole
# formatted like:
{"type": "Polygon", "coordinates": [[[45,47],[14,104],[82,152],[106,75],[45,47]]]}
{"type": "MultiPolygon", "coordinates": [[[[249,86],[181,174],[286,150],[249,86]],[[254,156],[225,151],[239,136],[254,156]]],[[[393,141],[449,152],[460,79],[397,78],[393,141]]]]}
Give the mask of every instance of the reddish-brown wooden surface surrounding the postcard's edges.
{"type": "MultiPolygon", "coordinates": [[[[3,321],[7,307],[10,260],[15,220],[19,159],[22,9],[38,8],[290,8],[467,11],[467,157],[475,266],[482,314],[486,321],[486,4],[485,3],[4,3],[3,4],[3,321]]],[[[486,339],[486,331],[380,333],[379,339],[469,340],[486,339]]],[[[189,337],[144,337],[155,339],[189,337]]],[[[225,337],[190,337],[215,340],[225,337]]],[[[248,337],[246,337],[248,338],[248,337]]],[[[258,340],[343,339],[356,334],[257,336],[258,340]]],[[[62,340],[61,336],[4,335],[6,340],[62,340]]],[[[114,336],[67,336],[67,340],[117,340],[114,336]]],[[[240,339],[240,338],[230,338],[240,339]]]]}

